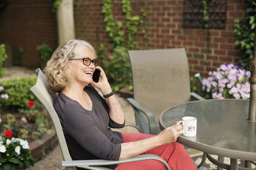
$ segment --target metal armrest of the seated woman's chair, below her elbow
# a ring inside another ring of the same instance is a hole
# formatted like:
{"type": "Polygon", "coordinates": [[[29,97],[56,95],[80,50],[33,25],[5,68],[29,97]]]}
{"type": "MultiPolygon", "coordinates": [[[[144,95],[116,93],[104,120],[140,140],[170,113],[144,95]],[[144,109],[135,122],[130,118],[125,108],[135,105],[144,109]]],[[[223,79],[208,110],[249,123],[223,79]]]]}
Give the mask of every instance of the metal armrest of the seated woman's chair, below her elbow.
{"type": "Polygon", "coordinates": [[[160,156],[153,155],[153,154],[145,154],[145,155],[138,155],[131,158],[126,158],[119,161],[108,161],[104,159],[98,159],[98,160],[81,160],[81,161],[62,161],[61,166],[62,167],[81,167],[86,168],[89,170],[109,170],[105,167],[100,167],[104,165],[112,165],[112,164],[123,164],[128,162],[135,162],[135,161],[145,161],[145,160],[156,160],[162,162],[166,169],[171,170],[167,162],[161,158],[160,156]]]}

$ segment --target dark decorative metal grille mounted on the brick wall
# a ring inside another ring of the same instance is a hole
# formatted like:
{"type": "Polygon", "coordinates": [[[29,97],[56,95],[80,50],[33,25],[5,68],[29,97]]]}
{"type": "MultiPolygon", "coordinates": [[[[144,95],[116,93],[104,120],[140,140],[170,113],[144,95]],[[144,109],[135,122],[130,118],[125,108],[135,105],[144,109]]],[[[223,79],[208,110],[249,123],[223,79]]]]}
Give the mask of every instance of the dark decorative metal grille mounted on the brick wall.
{"type": "Polygon", "coordinates": [[[183,27],[205,28],[203,1],[207,1],[209,28],[223,29],[226,24],[227,0],[184,0],[183,27]]]}

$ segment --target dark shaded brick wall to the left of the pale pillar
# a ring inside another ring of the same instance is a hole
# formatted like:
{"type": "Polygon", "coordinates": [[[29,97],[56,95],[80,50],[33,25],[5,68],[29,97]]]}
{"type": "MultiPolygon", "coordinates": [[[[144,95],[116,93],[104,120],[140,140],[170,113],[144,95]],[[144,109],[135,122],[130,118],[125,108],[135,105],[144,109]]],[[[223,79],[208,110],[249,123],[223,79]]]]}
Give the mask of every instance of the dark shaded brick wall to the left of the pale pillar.
{"type": "Polygon", "coordinates": [[[40,66],[38,44],[58,46],[52,0],[10,0],[0,11],[0,25],[0,43],[11,47],[13,61],[17,58],[17,48],[24,49],[22,66],[40,66]]]}

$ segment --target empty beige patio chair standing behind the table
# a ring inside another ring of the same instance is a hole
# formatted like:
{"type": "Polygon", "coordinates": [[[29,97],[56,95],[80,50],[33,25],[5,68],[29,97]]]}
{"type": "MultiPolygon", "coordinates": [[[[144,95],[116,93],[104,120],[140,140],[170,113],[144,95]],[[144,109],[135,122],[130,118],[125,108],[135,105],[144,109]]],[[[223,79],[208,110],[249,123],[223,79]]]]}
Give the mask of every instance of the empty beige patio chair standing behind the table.
{"type": "Polygon", "coordinates": [[[136,124],[143,133],[160,132],[159,115],[170,106],[204,100],[190,92],[189,66],[184,48],[129,51],[133,73],[134,98],[127,98],[134,108],[136,124]]]}

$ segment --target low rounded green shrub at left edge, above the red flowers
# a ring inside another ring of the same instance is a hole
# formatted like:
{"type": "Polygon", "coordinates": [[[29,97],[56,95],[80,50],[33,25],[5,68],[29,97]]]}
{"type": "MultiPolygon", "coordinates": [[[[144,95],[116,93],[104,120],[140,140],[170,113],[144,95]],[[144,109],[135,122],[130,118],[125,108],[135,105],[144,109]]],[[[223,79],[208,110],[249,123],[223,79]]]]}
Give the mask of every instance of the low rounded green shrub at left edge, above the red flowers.
{"type": "Polygon", "coordinates": [[[35,85],[36,79],[36,77],[27,77],[1,81],[3,92],[9,95],[8,99],[0,98],[2,106],[13,109],[25,108],[28,101],[35,99],[29,89],[35,85]]]}

